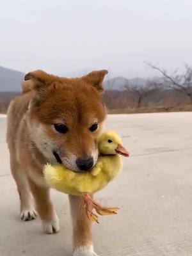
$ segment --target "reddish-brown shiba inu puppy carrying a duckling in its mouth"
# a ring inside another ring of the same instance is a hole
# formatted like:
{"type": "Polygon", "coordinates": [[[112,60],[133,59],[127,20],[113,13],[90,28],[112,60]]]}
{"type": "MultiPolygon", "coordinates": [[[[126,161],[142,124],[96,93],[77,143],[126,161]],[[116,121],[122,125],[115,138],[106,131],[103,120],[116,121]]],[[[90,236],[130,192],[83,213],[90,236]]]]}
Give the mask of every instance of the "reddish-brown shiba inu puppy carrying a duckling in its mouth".
{"type": "MultiPolygon", "coordinates": [[[[99,70],[69,79],[42,70],[29,72],[22,93],[8,109],[7,143],[20,196],[20,218],[33,220],[37,211],[46,233],[58,232],[60,225],[43,166],[58,162],[74,172],[88,172],[97,162],[97,136],[106,118],[102,81],[107,73],[99,70]]],[[[69,199],[74,256],[97,255],[91,223],[83,207],[79,210],[81,198],[70,195],[69,199]]]]}

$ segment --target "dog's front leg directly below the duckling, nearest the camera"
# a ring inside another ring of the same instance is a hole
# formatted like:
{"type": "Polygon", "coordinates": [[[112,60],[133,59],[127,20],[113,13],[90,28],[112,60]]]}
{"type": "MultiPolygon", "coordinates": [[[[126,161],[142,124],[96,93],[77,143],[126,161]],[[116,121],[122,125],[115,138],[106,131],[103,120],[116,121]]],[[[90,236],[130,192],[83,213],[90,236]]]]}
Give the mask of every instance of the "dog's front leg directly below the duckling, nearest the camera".
{"type": "Polygon", "coordinates": [[[88,220],[80,196],[69,195],[73,223],[74,256],[97,256],[93,250],[92,223],[88,220]]]}

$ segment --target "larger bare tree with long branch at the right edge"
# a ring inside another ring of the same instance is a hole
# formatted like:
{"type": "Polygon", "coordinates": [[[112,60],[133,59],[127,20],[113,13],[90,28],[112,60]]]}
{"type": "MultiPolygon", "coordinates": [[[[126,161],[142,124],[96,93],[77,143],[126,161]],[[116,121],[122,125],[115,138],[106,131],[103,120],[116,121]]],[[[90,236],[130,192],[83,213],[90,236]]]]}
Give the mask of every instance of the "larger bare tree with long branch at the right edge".
{"type": "Polygon", "coordinates": [[[171,88],[178,93],[186,95],[192,104],[192,67],[184,65],[184,72],[182,74],[178,74],[178,70],[175,70],[175,72],[170,75],[166,70],[162,70],[156,65],[152,65],[148,62],[144,63],[163,75],[163,83],[161,84],[164,84],[167,88],[171,88]]]}

